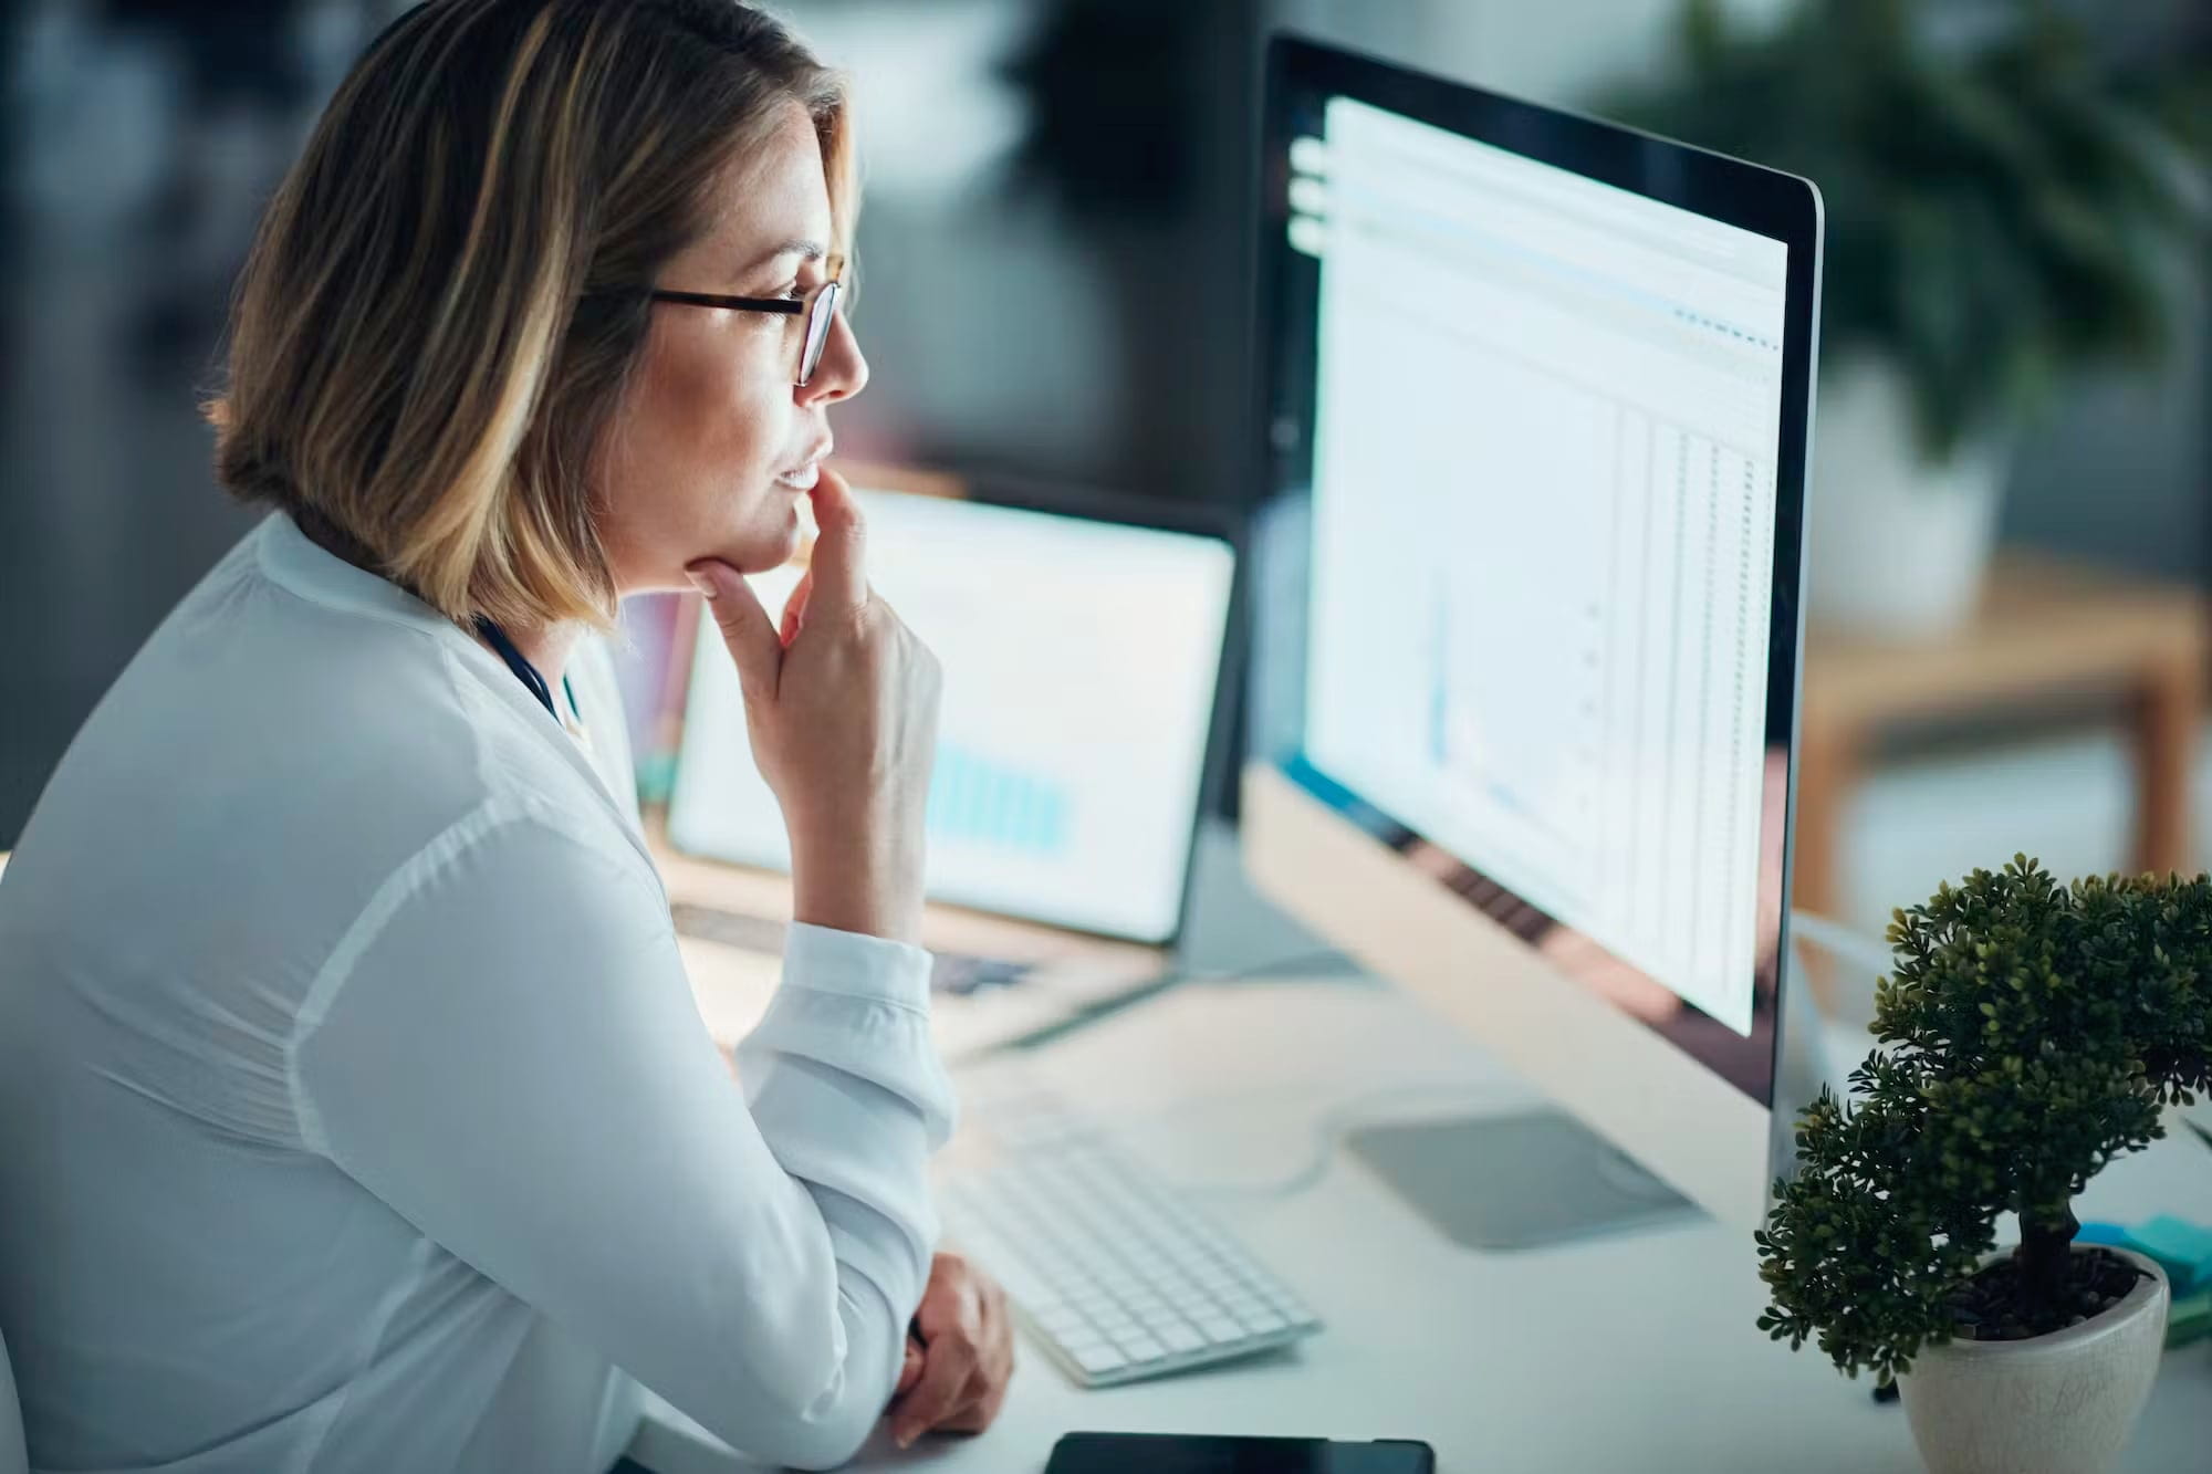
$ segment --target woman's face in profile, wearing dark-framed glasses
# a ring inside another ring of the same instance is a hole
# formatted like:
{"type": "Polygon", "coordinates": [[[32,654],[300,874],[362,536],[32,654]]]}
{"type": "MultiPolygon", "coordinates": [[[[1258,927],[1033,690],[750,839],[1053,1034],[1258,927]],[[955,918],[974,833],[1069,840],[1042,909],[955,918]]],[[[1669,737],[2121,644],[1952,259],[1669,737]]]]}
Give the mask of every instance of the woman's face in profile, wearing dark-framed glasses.
{"type": "MultiPolygon", "coordinates": [[[[823,279],[830,188],[814,124],[785,106],[768,146],[719,186],[708,232],[655,286],[796,297],[823,279]]],[[[830,454],[827,409],[867,385],[843,312],[805,387],[803,316],[653,303],[653,328],[599,458],[599,538],[619,593],[690,589],[684,564],[759,573],[799,549],[799,502],[830,454]]]]}

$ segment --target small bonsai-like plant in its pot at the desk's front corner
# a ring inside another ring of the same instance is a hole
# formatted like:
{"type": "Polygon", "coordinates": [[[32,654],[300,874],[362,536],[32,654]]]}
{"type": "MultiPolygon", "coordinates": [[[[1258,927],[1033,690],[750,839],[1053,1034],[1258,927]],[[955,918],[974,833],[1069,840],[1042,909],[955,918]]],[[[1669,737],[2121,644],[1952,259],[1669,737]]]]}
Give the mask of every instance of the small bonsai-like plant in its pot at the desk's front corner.
{"type": "Polygon", "coordinates": [[[1878,1045],[1849,1102],[1805,1109],[1759,1235],[1759,1326],[1896,1379],[1936,1474],[2106,1470],[2168,1288],[2077,1246],[2073,1200],[2212,1084],[2212,881],[2066,887],[2015,857],[1898,912],[1889,945],[1878,1045]]]}

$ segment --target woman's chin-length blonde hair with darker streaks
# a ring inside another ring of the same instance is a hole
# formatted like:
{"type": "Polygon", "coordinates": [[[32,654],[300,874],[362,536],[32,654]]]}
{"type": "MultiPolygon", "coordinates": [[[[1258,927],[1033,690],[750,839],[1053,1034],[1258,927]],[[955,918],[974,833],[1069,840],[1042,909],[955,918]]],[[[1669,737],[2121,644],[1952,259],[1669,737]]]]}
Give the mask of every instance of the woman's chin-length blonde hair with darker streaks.
{"type": "Polygon", "coordinates": [[[836,250],[843,80],[737,0],[429,0],[323,111],[254,235],[215,474],[467,624],[606,626],[588,467],[648,288],[785,104],[836,250]]]}

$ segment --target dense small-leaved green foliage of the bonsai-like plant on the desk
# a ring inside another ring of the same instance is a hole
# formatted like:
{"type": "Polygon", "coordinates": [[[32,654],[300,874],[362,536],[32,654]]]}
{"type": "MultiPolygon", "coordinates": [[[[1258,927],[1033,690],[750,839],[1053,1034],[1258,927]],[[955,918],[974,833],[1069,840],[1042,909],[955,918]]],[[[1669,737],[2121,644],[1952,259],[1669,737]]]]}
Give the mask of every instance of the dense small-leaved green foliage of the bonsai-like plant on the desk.
{"type": "Polygon", "coordinates": [[[1849,1102],[1823,1091],[1803,1113],[1798,1175],[1756,1235],[1761,1330],[1882,1381],[1951,1339],[2000,1213],[2055,1299],[2073,1197],[2212,1087],[2212,879],[2062,887],[2015,857],[1900,910],[1889,945],[1880,1047],[1849,1102]]]}

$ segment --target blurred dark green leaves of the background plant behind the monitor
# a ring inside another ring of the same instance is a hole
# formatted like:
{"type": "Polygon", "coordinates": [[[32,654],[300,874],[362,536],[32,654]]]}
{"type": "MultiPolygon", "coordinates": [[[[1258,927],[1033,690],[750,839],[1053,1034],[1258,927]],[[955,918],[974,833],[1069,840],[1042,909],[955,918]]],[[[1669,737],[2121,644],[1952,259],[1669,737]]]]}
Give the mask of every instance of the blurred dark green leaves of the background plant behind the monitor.
{"type": "Polygon", "coordinates": [[[2104,0],[2101,31],[2053,0],[1936,29],[1958,13],[1805,0],[1750,31],[1686,0],[1681,75],[1597,104],[1820,186],[1823,347],[1902,367],[1931,458],[2026,421],[2066,372],[2157,361],[2212,241],[2212,60],[2099,46],[2143,0],[2104,0]]]}

